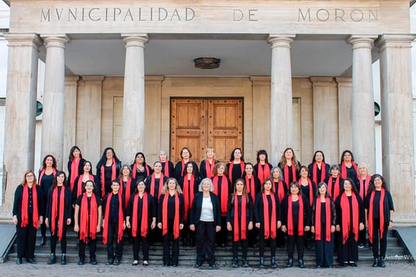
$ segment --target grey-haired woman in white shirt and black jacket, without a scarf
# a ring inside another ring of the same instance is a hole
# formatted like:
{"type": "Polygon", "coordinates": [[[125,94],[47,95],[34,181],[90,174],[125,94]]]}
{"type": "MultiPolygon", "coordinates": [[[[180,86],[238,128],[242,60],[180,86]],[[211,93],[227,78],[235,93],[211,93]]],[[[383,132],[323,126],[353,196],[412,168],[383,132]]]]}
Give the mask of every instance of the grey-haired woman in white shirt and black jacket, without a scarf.
{"type": "Polygon", "coordinates": [[[201,267],[205,258],[209,267],[215,263],[215,233],[221,230],[221,206],[218,197],[212,193],[214,185],[211,179],[202,179],[193,198],[189,215],[189,229],[195,231],[196,264],[201,267]]]}

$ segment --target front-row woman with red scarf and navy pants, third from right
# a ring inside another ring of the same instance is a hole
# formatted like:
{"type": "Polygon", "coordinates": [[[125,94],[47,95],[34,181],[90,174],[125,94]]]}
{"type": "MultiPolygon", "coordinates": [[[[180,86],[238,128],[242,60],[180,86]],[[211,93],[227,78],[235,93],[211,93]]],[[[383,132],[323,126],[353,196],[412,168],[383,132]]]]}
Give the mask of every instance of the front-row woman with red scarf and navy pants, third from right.
{"type": "Polygon", "coordinates": [[[316,267],[333,267],[333,233],[336,225],[335,202],[327,184],[318,184],[318,195],[312,205],[311,232],[315,234],[316,267]]]}

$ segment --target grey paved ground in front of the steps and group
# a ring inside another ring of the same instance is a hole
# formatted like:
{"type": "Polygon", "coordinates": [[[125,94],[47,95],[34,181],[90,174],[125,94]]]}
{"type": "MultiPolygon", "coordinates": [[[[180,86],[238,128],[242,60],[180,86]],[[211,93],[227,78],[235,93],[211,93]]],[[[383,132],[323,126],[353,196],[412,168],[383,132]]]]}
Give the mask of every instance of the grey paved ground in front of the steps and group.
{"type": "Polygon", "coordinates": [[[30,265],[24,261],[23,265],[16,265],[14,260],[9,260],[6,263],[0,264],[0,276],[180,276],[180,277],[252,277],[252,276],[345,276],[345,277],[367,277],[367,276],[399,276],[399,277],[414,277],[416,276],[416,266],[414,263],[403,261],[389,261],[388,266],[384,269],[379,267],[372,268],[371,266],[359,265],[358,267],[339,267],[333,269],[300,269],[293,267],[291,269],[259,269],[256,267],[233,269],[231,267],[219,267],[218,269],[209,269],[203,267],[202,269],[194,269],[193,267],[162,267],[162,266],[148,266],[141,265],[132,267],[130,264],[123,263],[119,266],[99,264],[96,266],[85,264],[78,266],[76,263],[68,265],[45,265],[37,264],[30,265]]]}

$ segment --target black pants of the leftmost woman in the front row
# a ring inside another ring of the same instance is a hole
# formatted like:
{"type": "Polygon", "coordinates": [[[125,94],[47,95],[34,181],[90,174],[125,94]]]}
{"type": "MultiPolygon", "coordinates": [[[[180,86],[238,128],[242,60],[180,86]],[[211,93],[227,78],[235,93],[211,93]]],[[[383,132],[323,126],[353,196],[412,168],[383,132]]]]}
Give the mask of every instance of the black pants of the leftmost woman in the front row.
{"type": "Polygon", "coordinates": [[[17,258],[34,258],[35,257],[35,244],[36,244],[36,231],[33,227],[33,214],[28,214],[28,224],[21,227],[16,225],[17,235],[17,258]]]}

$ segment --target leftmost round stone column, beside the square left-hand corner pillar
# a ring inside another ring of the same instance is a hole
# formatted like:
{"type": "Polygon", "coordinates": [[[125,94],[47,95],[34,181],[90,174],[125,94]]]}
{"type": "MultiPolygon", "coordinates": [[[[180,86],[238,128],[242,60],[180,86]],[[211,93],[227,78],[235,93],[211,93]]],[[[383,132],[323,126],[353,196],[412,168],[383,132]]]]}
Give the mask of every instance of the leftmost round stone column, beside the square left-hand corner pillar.
{"type": "Polygon", "coordinates": [[[51,154],[62,169],[67,161],[63,154],[65,109],[65,46],[66,35],[42,35],[46,43],[44,101],[42,114],[41,159],[51,154]],[[65,161],[65,162],[64,162],[65,161]]]}

